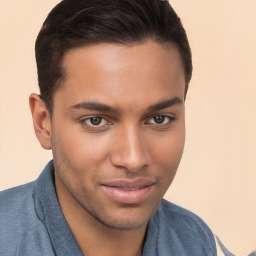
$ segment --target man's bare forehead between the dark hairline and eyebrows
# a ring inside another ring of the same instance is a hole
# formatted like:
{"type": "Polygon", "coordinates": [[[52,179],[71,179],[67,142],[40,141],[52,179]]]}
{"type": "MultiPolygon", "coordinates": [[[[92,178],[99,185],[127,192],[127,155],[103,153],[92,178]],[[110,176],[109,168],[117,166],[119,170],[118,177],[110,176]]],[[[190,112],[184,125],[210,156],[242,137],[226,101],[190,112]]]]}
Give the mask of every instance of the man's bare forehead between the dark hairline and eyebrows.
{"type": "Polygon", "coordinates": [[[84,100],[117,103],[117,99],[154,104],[167,94],[184,96],[184,69],[179,51],[171,44],[102,43],[71,49],[64,56],[63,69],[65,81],[59,92],[70,104],[84,100]]]}

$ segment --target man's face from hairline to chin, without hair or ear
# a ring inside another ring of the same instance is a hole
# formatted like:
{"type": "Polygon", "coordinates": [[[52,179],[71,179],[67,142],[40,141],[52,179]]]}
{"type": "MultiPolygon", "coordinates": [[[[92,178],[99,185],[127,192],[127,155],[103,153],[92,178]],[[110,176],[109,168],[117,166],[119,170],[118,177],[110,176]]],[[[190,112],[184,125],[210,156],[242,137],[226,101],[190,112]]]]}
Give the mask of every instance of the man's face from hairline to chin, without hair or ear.
{"type": "Polygon", "coordinates": [[[172,45],[70,50],[54,95],[56,180],[105,226],[135,229],[157,210],[184,146],[185,79],[172,45]]]}

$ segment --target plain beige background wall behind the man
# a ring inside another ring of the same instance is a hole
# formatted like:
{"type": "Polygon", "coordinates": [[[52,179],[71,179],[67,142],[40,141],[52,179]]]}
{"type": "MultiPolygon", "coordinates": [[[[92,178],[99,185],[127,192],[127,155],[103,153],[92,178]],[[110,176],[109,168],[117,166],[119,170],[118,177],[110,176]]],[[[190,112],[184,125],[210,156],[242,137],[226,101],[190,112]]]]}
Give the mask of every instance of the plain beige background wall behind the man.
{"type": "MultiPolygon", "coordinates": [[[[34,41],[58,1],[0,3],[0,190],[35,179],[51,153],[33,132],[34,41]]],[[[256,1],[171,0],[194,75],[187,143],[166,198],[199,214],[236,255],[256,248],[256,1]]]]}

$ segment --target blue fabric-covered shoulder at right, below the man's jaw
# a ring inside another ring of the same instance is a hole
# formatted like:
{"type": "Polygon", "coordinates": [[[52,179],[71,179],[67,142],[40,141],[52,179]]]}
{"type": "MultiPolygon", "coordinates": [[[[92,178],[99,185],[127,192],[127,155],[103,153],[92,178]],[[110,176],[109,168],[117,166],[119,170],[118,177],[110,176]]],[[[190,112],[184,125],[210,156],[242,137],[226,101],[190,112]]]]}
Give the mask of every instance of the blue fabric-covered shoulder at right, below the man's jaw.
{"type": "Polygon", "coordinates": [[[157,211],[159,236],[165,244],[176,241],[176,251],[182,255],[217,255],[214,235],[196,214],[163,200],[157,211]]]}

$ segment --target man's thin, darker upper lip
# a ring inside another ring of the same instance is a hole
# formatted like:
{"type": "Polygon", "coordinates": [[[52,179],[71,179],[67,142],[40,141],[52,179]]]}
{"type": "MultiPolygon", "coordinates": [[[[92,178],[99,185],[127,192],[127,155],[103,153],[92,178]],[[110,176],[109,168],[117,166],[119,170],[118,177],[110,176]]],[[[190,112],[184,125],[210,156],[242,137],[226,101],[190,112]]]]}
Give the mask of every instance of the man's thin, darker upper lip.
{"type": "Polygon", "coordinates": [[[113,180],[102,184],[108,187],[120,187],[120,188],[143,188],[147,186],[152,186],[155,183],[154,180],[150,179],[135,179],[135,180],[113,180]]]}

